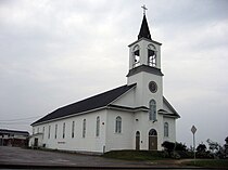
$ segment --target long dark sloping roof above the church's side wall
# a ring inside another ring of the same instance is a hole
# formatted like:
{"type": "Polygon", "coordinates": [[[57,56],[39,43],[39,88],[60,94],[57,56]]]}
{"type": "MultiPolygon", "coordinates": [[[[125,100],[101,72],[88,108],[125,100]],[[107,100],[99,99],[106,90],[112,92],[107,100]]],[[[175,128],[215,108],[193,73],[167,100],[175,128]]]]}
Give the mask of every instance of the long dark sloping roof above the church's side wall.
{"type": "Polygon", "coordinates": [[[66,105],[64,107],[58,108],[56,110],[48,114],[47,116],[42,117],[41,119],[33,122],[31,126],[36,125],[36,123],[43,122],[43,121],[49,121],[52,119],[71,116],[71,115],[76,115],[76,114],[80,114],[84,112],[88,112],[88,110],[92,110],[96,108],[107,106],[114,100],[116,100],[118,96],[121,96],[122,94],[124,94],[125,92],[127,92],[135,86],[136,86],[136,83],[130,84],[130,86],[126,84],[126,86],[106,91],[104,93],[88,97],[86,100],[66,105]]]}

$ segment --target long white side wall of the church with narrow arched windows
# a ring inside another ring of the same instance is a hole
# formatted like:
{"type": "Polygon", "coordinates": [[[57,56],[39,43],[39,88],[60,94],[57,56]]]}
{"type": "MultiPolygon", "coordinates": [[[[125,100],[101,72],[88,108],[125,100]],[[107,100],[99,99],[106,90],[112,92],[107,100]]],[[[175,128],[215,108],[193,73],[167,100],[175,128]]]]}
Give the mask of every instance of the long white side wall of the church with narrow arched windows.
{"type": "Polygon", "coordinates": [[[103,152],[105,145],[105,109],[90,114],[35,126],[35,131],[45,127],[43,144],[46,147],[64,151],[103,152]],[[100,135],[96,136],[97,117],[100,117],[100,135]],[[83,121],[86,119],[86,136],[83,138],[83,121]],[[75,135],[72,138],[72,122],[75,121],[75,135]],[[63,123],[65,122],[65,138],[63,139],[63,123]],[[56,139],[55,125],[58,125],[56,139]],[[50,139],[48,138],[49,126],[51,126],[50,139]]]}

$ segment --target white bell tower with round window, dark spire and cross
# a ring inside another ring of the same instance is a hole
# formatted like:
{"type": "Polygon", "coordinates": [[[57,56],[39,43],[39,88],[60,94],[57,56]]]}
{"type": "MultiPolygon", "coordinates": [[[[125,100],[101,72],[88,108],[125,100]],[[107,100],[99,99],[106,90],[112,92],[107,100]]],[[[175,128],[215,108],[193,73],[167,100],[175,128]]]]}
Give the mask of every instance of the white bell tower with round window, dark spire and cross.
{"type": "Polygon", "coordinates": [[[145,12],[143,12],[138,40],[128,45],[129,71],[127,84],[137,83],[136,93],[138,97],[136,99],[136,105],[138,106],[148,106],[150,100],[154,99],[157,106],[162,107],[161,45],[162,43],[151,38],[145,12]]]}

